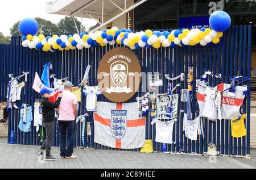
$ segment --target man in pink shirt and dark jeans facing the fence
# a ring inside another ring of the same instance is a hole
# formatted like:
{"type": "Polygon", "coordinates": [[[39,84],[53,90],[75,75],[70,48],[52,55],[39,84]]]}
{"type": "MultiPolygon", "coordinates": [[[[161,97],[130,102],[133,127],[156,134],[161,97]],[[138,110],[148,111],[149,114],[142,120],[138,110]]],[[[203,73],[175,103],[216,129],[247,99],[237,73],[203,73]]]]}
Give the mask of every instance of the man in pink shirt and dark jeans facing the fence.
{"type": "Polygon", "coordinates": [[[71,82],[65,82],[63,98],[61,98],[59,106],[60,158],[76,158],[72,154],[75,141],[77,99],[76,95],[71,93],[72,86],[71,82]]]}

